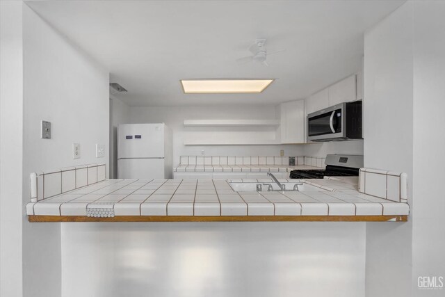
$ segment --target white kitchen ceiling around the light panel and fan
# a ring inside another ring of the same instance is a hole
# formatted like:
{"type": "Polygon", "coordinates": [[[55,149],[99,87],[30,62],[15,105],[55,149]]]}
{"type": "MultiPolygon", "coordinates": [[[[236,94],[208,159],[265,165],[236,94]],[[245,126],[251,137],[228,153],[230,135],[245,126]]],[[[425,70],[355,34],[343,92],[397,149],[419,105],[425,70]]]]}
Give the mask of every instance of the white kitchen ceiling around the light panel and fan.
{"type": "Polygon", "coordinates": [[[360,69],[364,31],[403,1],[30,1],[108,68],[132,106],[277,104],[360,69]],[[268,66],[239,65],[266,38],[268,66]],[[274,78],[261,94],[184,94],[180,79],[274,78]]]}

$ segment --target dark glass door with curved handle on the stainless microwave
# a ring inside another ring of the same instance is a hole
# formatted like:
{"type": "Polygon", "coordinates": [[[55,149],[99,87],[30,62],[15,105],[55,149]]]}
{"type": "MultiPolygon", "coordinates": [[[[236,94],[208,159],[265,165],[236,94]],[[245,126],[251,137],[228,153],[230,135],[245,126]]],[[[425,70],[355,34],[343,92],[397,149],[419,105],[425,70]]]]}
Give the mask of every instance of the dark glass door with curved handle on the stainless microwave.
{"type": "Polygon", "coordinates": [[[309,118],[309,136],[341,133],[341,109],[309,118]]]}

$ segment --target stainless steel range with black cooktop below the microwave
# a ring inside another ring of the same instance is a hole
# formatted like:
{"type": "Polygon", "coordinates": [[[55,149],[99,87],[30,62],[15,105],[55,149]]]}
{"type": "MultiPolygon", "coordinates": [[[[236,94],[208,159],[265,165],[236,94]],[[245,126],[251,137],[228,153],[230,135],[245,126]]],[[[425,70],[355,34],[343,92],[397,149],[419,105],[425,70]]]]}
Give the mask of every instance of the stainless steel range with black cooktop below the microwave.
{"type": "Polygon", "coordinates": [[[363,156],[355,154],[328,154],[326,169],[292,170],[291,179],[318,179],[323,177],[353,177],[363,167],[363,156]]]}

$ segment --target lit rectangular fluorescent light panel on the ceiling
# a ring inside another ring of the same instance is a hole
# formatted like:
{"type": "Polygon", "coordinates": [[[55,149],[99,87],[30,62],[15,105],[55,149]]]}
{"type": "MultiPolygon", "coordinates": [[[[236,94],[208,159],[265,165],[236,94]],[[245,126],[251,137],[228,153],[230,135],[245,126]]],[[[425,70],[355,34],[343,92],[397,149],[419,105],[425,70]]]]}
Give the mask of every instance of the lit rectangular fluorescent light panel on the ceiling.
{"type": "Polygon", "coordinates": [[[274,79],[181,79],[186,94],[261,93],[274,79]]]}

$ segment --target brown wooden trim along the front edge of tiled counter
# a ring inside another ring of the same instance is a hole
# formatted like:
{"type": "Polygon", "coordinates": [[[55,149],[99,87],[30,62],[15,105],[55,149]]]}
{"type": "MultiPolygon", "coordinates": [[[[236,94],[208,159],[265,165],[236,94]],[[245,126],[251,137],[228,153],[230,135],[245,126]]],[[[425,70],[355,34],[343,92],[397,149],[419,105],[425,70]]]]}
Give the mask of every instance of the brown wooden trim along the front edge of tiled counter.
{"type": "Polygon", "coordinates": [[[28,216],[31,223],[51,222],[406,222],[408,216],[28,216]]]}

